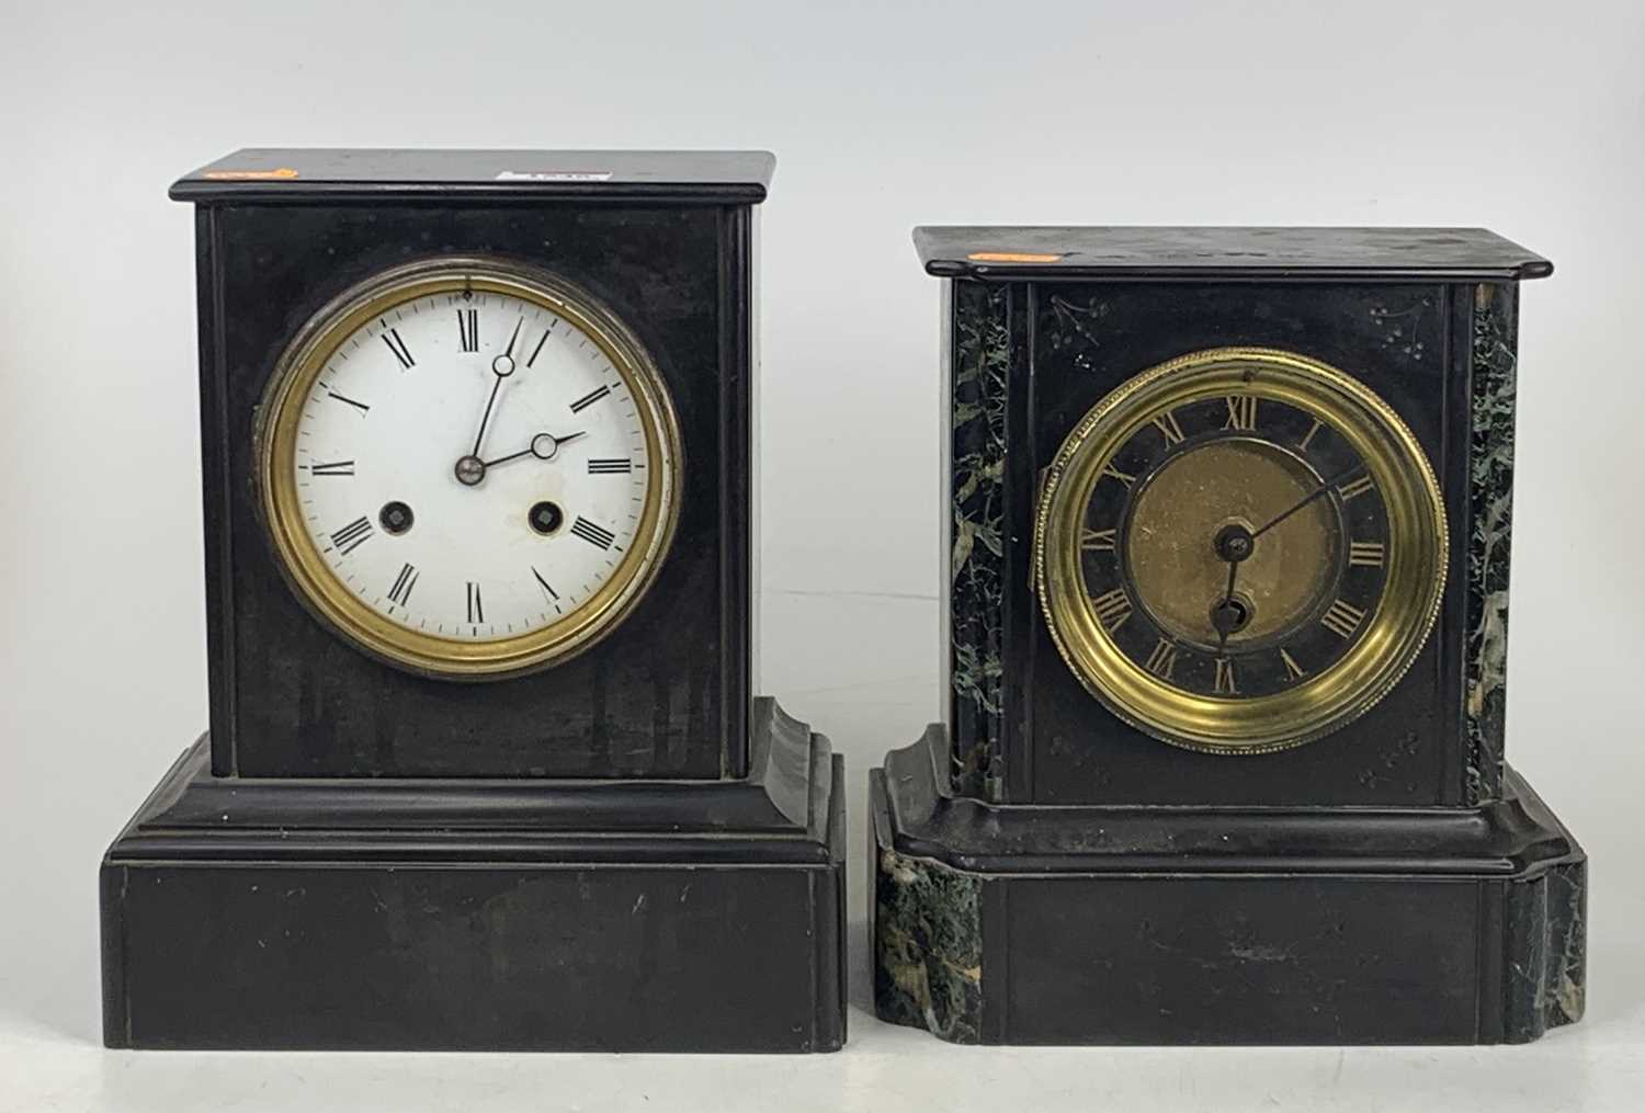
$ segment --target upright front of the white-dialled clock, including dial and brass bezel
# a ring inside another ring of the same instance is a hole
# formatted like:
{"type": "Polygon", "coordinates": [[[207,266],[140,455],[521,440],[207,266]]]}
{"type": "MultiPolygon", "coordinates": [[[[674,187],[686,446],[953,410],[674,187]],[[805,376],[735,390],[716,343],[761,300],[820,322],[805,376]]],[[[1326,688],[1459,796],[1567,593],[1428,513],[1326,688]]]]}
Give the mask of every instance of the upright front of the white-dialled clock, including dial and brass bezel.
{"type": "Polygon", "coordinates": [[[727,335],[747,322],[752,212],[199,222],[201,288],[222,291],[201,307],[214,768],[744,768],[750,353],[727,335]],[[408,266],[411,286],[385,288],[408,266]],[[370,312],[331,312],[352,296],[370,312]]]}

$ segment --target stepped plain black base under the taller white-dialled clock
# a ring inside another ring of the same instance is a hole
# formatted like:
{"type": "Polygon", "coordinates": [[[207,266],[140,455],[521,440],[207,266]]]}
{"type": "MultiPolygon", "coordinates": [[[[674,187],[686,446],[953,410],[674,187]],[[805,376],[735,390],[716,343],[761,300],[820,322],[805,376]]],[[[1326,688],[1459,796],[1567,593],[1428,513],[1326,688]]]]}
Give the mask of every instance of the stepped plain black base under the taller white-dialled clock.
{"type": "Polygon", "coordinates": [[[842,763],[757,700],[735,781],[212,778],[102,863],[110,1047],[834,1051],[842,763]]]}

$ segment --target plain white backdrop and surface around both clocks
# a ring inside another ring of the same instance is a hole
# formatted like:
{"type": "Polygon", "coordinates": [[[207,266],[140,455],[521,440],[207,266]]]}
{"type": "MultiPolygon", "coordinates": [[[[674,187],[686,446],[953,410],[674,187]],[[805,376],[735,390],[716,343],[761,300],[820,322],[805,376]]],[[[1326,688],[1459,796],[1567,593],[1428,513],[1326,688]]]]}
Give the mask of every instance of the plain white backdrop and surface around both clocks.
{"type": "Polygon", "coordinates": [[[0,1111],[1637,1108],[1637,3],[0,13],[0,1111]],[[862,1009],[859,927],[852,1042],[804,1062],[100,1051],[97,857],[206,720],[194,245],[164,189],[247,145],[776,151],[763,674],[846,753],[854,855],[867,768],[938,704],[938,283],[911,225],[1464,224],[1548,255],[1508,750],[1592,855],[1589,1019],[1517,1051],[956,1051],[862,1009]]]}

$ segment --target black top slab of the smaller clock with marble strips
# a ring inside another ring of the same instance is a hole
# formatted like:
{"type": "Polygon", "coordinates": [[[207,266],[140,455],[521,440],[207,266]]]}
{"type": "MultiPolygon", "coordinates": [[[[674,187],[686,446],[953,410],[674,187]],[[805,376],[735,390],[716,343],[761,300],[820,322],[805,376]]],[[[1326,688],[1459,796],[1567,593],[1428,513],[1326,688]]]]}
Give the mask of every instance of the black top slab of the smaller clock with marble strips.
{"type": "Polygon", "coordinates": [[[920,227],[939,278],[1520,281],[1553,263],[1485,229],[920,227]]]}

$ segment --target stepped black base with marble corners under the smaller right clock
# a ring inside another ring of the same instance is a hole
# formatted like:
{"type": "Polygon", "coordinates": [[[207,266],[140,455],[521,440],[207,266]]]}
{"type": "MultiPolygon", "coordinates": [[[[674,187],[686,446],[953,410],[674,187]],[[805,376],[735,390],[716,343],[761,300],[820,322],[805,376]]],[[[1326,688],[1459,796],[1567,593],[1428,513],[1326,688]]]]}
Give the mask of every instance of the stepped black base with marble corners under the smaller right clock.
{"type": "Polygon", "coordinates": [[[982,1044],[1497,1044],[1582,1014],[1586,857],[1472,809],[1008,806],[870,773],[882,1019],[982,1044]]]}

